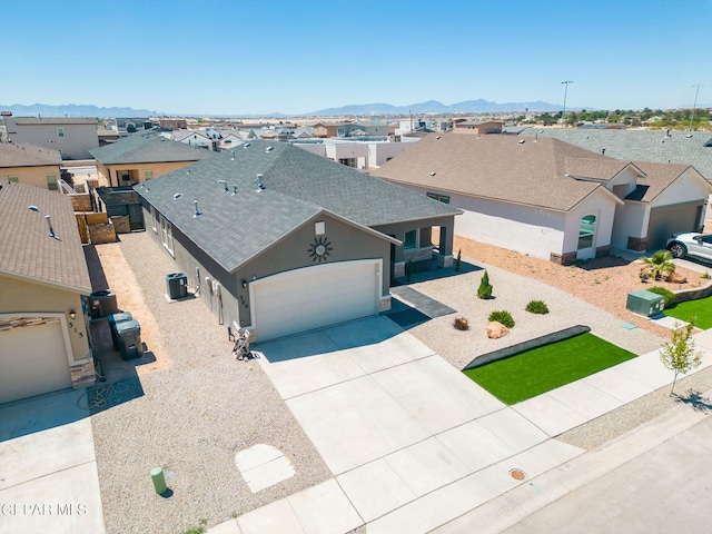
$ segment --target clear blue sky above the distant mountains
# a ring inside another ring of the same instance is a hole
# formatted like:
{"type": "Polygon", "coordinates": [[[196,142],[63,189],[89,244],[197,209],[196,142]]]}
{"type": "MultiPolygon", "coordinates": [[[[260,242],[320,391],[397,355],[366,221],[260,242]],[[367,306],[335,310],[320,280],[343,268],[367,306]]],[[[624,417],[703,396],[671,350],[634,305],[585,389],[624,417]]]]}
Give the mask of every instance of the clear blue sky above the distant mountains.
{"type": "MultiPolygon", "coordinates": [[[[709,0],[3,0],[0,103],[712,102],[709,0]]],[[[712,103],[708,103],[712,106],[712,103]]]]}

